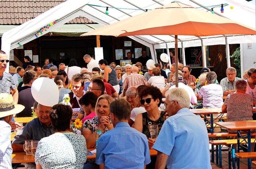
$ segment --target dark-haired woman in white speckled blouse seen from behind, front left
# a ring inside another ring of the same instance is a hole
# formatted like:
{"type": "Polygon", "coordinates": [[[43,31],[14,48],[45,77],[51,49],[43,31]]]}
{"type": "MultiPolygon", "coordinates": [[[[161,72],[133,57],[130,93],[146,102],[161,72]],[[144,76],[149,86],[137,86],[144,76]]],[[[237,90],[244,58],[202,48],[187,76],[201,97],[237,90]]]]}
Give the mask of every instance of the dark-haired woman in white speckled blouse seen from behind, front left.
{"type": "Polygon", "coordinates": [[[35,155],[37,169],[83,168],[87,158],[86,140],[70,132],[71,118],[70,106],[52,107],[50,120],[55,133],[39,141],[35,155]]]}

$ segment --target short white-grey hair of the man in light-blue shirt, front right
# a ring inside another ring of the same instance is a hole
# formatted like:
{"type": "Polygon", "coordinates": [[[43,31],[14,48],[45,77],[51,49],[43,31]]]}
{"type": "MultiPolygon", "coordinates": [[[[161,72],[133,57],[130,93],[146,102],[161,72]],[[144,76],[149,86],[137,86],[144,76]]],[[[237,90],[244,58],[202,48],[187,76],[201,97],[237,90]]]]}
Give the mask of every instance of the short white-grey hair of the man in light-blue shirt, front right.
{"type": "Polygon", "coordinates": [[[183,88],[172,88],[166,92],[166,97],[169,96],[169,101],[177,100],[178,104],[182,108],[190,107],[190,98],[188,92],[183,88]]]}

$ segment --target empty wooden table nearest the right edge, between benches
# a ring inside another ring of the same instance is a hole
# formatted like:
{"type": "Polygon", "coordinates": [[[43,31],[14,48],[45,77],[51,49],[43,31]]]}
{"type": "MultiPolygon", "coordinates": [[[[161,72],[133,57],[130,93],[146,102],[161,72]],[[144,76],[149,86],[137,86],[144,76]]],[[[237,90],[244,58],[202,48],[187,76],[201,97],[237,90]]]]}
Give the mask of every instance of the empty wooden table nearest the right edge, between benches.
{"type": "MultiPolygon", "coordinates": [[[[240,130],[248,130],[248,152],[251,152],[251,130],[256,129],[256,121],[251,120],[251,121],[237,121],[237,122],[217,122],[219,126],[222,126],[223,128],[226,128],[228,130],[237,130],[237,152],[239,153],[240,151],[240,139],[245,139],[241,133],[240,130]]],[[[237,169],[239,169],[239,158],[237,159],[237,169]]],[[[251,169],[251,159],[248,158],[248,169],[251,169]]],[[[233,164],[233,168],[234,168],[233,164]]]]}

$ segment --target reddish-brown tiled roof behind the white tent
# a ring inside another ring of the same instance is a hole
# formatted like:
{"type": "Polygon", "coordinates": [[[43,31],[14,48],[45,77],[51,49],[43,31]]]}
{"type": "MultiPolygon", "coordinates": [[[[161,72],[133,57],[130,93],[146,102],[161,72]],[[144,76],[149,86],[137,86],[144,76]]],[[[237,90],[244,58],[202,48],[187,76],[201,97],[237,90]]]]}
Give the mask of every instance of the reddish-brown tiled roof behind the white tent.
{"type": "MultiPolygon", "coordinates": [[[[0,0],[0,25],[20,25],[66,0],[0,0]]],[[[78,17],[67,24],[93,24],[78,17]]]]}

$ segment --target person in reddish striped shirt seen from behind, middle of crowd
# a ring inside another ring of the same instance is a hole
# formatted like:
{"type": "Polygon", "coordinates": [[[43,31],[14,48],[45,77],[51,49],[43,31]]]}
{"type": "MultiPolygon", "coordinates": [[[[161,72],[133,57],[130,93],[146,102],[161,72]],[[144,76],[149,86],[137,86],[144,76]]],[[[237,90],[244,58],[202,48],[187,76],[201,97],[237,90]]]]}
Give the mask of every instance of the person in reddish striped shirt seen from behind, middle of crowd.
{"type": "Polygon", "coordinates": [[[123,84],[123,96],[126,95],[126,90],[131,87],[138,87],[140,85],[147,85],[147,82],[144,78],[143,75],[138,74],[139,73],[139,68],[136,66],[132,67],[132,74],[127,76],[126,79],[124,80],[123,84]]]}

